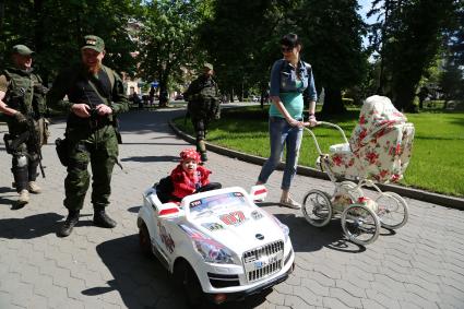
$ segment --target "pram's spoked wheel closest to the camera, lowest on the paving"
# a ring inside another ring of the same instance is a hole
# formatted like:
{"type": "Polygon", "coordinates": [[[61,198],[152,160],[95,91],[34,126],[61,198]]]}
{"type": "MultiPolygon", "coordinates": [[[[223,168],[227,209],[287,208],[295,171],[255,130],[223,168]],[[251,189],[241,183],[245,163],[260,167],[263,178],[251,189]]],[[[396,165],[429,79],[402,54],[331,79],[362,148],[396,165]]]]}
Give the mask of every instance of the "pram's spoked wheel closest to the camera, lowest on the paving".
{"type": "Polygon", "coordinates": [[[357,245],[369,245],[379,237],[380,222],[373,211],[361,204],[347,206],[342,213],[342,228],[357,245]]]}

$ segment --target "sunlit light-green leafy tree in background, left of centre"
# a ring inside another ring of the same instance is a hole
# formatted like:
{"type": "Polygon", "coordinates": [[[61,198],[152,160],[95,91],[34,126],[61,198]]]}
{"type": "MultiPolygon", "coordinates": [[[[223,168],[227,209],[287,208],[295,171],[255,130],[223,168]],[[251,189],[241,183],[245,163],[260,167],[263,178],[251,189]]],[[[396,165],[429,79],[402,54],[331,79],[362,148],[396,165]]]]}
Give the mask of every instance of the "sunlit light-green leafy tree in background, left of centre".
{"type": "Polygon", "coordinates": [[[197,29],[209,8],[210,1],[200,0],[146,3],[140,34],[140,74],[148,81],[157,80],[160,93],[168,91],[172,79],[179,79],[182,67],[190,69],[202,58],[195,49],[197,29]]]}

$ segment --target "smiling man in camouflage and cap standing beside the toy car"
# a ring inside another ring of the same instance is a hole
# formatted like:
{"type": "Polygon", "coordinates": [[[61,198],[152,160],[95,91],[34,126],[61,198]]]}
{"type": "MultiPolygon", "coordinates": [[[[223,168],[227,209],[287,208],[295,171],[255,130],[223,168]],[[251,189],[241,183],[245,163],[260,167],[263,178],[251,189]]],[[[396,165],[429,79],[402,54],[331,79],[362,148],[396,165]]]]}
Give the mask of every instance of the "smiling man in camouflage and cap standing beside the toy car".
{"type": "Polygon", "coordinates": [[[129,109],[121,79],[102,64],[105,44],[87,35],[81,48],[82,63],[57,76],[47,95],[50,107],[70,110],[66,136],[68,143],[68,176],[64,179],[64,206],[68,217],[58,231],[66,237],[79,221],[90,186],[92,167],[92,204],[94,225],[112,228],[116,222],[105,212],[109,205],[111,174],[118,158],[116,115],[129,109]],[[64,96],[67,100],[63,100],[64,96]]]}

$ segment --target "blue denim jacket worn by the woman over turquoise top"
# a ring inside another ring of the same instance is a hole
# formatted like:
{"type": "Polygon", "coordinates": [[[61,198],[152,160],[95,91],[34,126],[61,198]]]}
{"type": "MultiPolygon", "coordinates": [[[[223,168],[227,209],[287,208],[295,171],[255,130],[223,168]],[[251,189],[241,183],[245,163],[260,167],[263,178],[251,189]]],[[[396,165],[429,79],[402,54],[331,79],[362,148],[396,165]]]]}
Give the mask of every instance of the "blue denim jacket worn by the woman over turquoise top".
{"type": "Polygon", "coordinates": [[[279,59],[274,62],[271,71],[270,96],[278,96],[281,93],[299,92],[304,93],[306,102],[316,102],[318,99],[311,66],[302,60],[299,61],[299,69],[295,68],[284,59],[279,59]],[[298,88],[296,86],[296,70],[300,71],[302,81],[302,86],[298,88]]]}

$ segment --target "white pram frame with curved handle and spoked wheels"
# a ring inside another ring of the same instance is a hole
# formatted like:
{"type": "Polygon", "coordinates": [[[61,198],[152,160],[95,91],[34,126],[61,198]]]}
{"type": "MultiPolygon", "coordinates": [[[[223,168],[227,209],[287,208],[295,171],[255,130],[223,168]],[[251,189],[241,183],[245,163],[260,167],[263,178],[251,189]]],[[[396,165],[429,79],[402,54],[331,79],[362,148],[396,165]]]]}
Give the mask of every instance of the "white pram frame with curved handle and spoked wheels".
{"type": "MultiPolygon", "coordinates": [[[[344,142],[349,145],[345,132],[337,124],[318,121],[318,126],[335,128],[342,134],[344,142]]],[[[337,216],[346,238],[357,245],[368,245],[379,237],[380,227],[396,229],[404,226],[408,218],[408,207],[406,201],[394,192],[382,192],[380,188],[370,179],[358,178],[358,183],[349,180],[340,181],[332,173],[326,162],[328,154],[323,154],[316,134],[312,130],[305,128],[314,141],[319,153],[317,163],[335,189],[332,194],[321,190],[310,190],[304,198],[302,214],[309,224],[322,227],[337,216]],[[365,188],[373,188],[377,197],[371,200],[365,197],[365,188]]],[[[354,156],[355,161],[359,161],[354,156]]]]}

